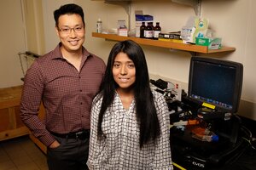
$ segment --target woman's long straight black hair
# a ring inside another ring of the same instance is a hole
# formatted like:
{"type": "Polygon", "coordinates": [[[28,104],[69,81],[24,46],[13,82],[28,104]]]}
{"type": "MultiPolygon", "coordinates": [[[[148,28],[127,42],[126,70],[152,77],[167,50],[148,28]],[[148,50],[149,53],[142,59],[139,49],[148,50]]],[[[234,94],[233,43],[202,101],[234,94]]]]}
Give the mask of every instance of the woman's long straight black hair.
{"type": "Polygon", "coordinates": [[[131,40],[117,42],[108,57],[108,64],[102,82],[102,108],[99,114],[98,135],[102,135],[102,119],[108,106],[112,104],[115,89],[118,85],[113,80],[113,62],[117,54],[123,52],[133,61],[136,68],[136,82],[134,82],[134,96],[136,102],[137,121],[140,124],[140,147],[149,140],[156,139],[160,135],[160,123],[158,121],[154,97],[149,85],[148,66],[143,49],[131,40]]]}

